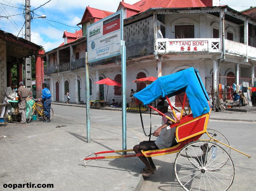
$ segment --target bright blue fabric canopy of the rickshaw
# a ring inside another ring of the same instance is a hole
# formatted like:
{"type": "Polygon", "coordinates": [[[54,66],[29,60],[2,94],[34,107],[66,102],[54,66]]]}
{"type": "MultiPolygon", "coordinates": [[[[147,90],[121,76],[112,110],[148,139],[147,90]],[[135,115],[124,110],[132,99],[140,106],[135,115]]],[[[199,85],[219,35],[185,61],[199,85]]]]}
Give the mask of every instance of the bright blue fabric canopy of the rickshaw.
{"type": "Polygon", "coordinates": [[[193,117],[210,112],[209,97],[198,70],[194,67],[159,77],[133,96],[148,105],[166,95],[172,97],[183,92],[187,94],[193,117]]]}

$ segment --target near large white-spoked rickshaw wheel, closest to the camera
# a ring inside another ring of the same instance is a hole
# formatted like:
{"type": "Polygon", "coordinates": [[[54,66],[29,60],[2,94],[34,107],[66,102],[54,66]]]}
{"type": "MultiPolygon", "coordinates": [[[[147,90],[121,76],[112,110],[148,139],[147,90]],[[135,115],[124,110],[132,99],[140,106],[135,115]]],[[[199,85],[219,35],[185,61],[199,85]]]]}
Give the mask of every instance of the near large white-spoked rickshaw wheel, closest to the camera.
{"type": "Polygon", "coordinates": [[[225,191],[234,180],[234,164],[228,152],[211,141],[185,145],[177,154],[174,171],[187,191],[225,191]]]}

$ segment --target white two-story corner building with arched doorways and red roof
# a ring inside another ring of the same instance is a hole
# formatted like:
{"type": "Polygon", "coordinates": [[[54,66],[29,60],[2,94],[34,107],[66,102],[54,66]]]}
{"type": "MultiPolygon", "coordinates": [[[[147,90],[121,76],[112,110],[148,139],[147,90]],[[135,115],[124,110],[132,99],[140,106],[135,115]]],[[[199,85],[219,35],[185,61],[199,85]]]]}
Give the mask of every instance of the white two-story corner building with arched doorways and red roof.
{"type": "MultiPolygon", "coordinates": [[[[255,81],[256,20],[228,6],[215,6],[220,1],[214,2],[145,0],[133,5],[120,2],[117,11],[123,9],[124,15],[127,95],[130,89],[140,90],[146,86],[134,83],[136,78],[159,77],[188,67],[199,69],[201,78],[205,79],[206,90],[216,92],[212,94],[214,100],[219,84],[229,86],[255,81]]],[[[83,36],[87,36],[87,26],[97,21],[91,17],[90,9],[85,9],[79,23],[83,36]]],[[[47,61],[47,69],[48,66],[57,69],[70,62],[70,68],[65,72],[56,70],[49,73],[48,70],[45,76],[51,79],[55,100],[61,95],[62,101],[65,101],[66,84],[74,94],[71,101],[85,100],[85,70],[72,67],[72,62],[77,62],[74,55],[78,46],[83,47],[79,50],[84,58],[86,37],[67,44],[66,52],[62,47],[54,49],[56,53],[53,50],[46,52],[46,57],[55,55],[55,62],[47,61]],[[62,53],[70,55],[70,58],[64,59],[62,53]],[[57,87],[57,82],[61,86],[57,87]]],[[[91,100],[106,98],[106,87],[94,82],[109,77],[121,83],[120,62],[120,58],[111,58],[90,64],[91,100]]],[[[120,87],[108,90],[106,101],[110,102],[112,98],[121,101],[120,87]]]]}

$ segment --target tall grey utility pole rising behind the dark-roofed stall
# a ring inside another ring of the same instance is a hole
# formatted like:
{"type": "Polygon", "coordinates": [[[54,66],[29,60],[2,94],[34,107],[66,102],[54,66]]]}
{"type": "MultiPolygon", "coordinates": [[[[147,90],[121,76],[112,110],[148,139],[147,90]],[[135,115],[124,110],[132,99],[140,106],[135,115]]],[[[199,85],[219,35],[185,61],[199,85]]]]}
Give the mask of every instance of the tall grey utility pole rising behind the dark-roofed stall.
{"type": "MultiPolygon", "coordinates": [[[[30,34],[30,23],[31,23],[31,14],[30,14],[30,0],[26,0],[25,3],[25,39],[31,41],[30,34]]],[[[26,58],[25,62],[25,87],[29,90],[32,89],[31,82],[31,58],[26,58]]]]}

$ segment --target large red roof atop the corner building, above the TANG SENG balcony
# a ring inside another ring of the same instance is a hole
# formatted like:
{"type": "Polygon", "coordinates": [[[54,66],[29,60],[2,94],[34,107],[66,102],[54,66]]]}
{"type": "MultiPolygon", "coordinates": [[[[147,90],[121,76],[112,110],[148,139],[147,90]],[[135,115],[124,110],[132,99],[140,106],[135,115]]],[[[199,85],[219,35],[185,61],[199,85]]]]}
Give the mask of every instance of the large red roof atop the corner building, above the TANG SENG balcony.
{"type": "Polygon", "coordinates": [[[141,0],[133,4],[144,12],[150,8],[206,7],[200,0],[141,0]]]}

